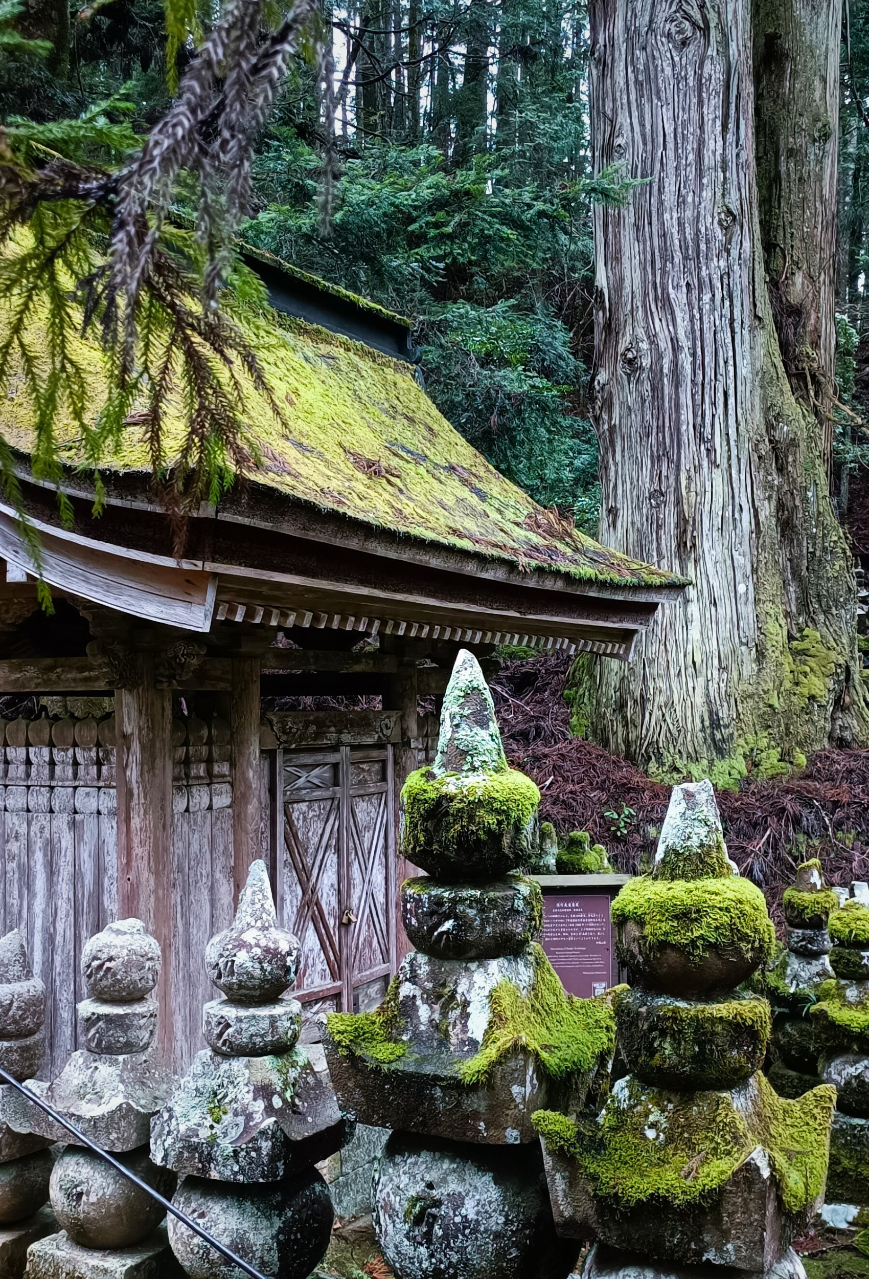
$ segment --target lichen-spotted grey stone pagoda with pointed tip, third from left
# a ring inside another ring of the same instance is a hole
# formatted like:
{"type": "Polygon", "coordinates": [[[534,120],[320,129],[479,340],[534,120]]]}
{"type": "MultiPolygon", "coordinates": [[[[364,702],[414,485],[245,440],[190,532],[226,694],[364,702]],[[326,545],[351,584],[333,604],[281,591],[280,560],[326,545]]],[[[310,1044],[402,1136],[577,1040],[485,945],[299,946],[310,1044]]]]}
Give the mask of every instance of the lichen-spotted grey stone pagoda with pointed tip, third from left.
{"type": "MultiPolygon", "coordinates": [[[[206,964],[224,998],[204,1005],[199,1053],[151,1129],[155,1163],[181,1181],[174,1202],[262,1274],[304,1279],[322,1259],[332,1202],[313,1166],[351,1136],[326,1059],[302,1048],[302,1005],[285,998],[299,943],[279,927],[268,872],[254,862],[235,922],[206,964]]],[[[190,1279],[236,1274],[176,1219],[175,1256],[190,1279]]]]}

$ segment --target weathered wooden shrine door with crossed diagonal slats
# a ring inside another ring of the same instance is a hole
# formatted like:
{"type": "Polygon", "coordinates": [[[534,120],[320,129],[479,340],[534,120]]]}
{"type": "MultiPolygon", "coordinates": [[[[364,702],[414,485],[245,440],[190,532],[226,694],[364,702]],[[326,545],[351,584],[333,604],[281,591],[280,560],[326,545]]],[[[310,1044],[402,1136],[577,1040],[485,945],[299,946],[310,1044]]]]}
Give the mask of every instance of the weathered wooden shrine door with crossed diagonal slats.
{"type": "Polygon", "coordinates": [[[302,943],[294,994],[308,1019],[364,1012],[396,966],[391,746],[286,752],[277,900],[302,943]]]}

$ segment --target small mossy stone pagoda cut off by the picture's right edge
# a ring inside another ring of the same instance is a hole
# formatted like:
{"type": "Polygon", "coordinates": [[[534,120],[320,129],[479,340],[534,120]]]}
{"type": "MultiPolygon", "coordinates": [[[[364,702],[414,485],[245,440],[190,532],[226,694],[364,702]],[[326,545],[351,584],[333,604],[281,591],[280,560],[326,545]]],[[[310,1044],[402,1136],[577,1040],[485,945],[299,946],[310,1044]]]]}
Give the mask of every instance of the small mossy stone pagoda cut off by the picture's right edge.
{"type": "MultiPolygon", "coordinates": [[[[865,888],[852,891],[863,898],[865,888]]],[[[836,1225],[849,1225],[869,1206],[869,906],[860,898],[847,898],[829,917],[836,976],[818,987],[810,1009],[820,1074],[838,1095],[824,1205],[824,1218],[836,1225]]]]}

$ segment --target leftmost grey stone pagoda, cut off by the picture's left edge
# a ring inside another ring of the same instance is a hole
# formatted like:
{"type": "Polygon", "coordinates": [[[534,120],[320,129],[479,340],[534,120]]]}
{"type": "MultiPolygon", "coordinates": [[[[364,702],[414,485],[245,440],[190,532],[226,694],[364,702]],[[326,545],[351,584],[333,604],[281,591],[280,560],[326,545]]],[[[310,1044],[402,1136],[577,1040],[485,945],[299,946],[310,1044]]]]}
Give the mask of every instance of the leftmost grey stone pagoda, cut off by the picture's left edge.
{"type": "MultiPolygon", "coordinates": [[[[45,1054],[45,986],[31,972],[20,932],[0,938],[0,1065],[27,1079],[45,1054]]],[[[14,1092],[0,1083],[0,1099],[14,1092]]],[[[58,1229],[49,1202],[50,1141],[0,1119],[0,1275],[20,1279],[31,1243],[58,1229]]]]}

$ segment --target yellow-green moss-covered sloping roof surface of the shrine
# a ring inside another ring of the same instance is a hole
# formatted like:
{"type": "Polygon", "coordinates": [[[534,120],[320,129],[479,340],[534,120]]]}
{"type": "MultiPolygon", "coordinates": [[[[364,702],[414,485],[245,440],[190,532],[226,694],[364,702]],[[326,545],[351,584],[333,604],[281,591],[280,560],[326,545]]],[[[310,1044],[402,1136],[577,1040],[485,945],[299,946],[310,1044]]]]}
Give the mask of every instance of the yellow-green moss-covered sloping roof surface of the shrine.
{"type": "MultiPolygon", "coordinates": [[[[1,315],[0,315],[1,318],[1,315]]],[[[437,411],[403,361],[275,312],[243,321],[259,356],[280,422],[244,380],[250,478],[364,524],[495,559],[615,586],[673,586],[670,573],[607,550],[538,506],[500,475],[437,411]]],[[[81,341],[95,420],[106,395],[102,354],[81,341]]],[[[70,464],[78,431],[59,414],[56,436],[70,464]]],[[[29,450],[32,409],[23,377],[0,399],[0,431],[29,450]]],[[[183,417],[167,430],[180,440],[183,417]]],[[[171,451],[171,450],[170,450],[171,451]]],[[[106,469],[147,472],[144,440],[132,426],[106,469]]]]}

